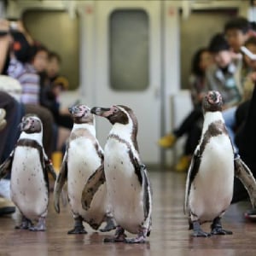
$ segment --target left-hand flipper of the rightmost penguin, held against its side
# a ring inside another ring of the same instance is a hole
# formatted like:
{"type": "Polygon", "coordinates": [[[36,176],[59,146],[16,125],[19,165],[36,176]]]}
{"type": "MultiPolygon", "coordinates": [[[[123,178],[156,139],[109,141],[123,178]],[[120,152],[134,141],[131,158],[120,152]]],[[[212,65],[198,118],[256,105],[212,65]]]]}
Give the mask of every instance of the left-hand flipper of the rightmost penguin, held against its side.
{"type": "Polygon", "coordinates": [[[184,201],[184,206],[183,206],[183,211],[184,214],[188,212],[188,207],[189,207],[189,193],[191,189],[191,184],[193,183],[195,179],[195,175],[198,172],[198,168],[201,162],[201,155],[200,155],[200,148],[199,146],[195,148],[195,152],[192,156],[190,166],[189,166],[189,171],[188,171],[188,176],[187,176],[187,181],[186,181],[186,191],[185,191],[185,201],[184,201]]]}

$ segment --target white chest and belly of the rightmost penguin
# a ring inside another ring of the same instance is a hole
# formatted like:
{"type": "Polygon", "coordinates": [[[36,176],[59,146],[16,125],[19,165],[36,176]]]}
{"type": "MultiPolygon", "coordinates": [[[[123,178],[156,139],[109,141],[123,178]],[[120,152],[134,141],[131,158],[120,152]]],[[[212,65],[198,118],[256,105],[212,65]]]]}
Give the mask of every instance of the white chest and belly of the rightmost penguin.
{"type": "Polygon", "coordinates": [[[190,191],[190,208],[201,221],[209,221],[230,205],[234,182],[234,152],[223,120],[204,127],[201,154],[190,191]]]}

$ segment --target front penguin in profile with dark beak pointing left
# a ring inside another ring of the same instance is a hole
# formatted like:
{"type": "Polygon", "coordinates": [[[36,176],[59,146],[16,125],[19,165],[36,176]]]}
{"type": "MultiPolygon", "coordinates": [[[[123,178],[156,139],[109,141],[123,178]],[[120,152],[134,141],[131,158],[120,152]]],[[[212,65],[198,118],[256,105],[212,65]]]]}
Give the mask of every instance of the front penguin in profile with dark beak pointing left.
{"type": "Polygon", "coordinates": [[[106,180],[117,230],[104,241],[143,243],[151,231],[152,189],[139,156],[137,118],[131,108],[122,105],[92,108],[91,113],[107,118],[113,127],[104,148],[104,172],[96,173],[85,184],[83,206],[90,208],[96,189],[106,180]],[[137,237],[126,238],[125,230],[137,237]]]}

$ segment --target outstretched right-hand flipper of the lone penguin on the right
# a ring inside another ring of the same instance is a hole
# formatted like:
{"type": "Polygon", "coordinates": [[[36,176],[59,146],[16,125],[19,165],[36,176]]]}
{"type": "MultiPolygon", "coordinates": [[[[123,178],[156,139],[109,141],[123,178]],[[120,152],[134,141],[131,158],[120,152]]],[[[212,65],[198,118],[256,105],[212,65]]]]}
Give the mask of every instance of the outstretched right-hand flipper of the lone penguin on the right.
{"type": "Polygon", "coordinates": [[[247,189],[253,208],[256,207],[256,181],[249,167],[241,160],[240,156],[235,158],[235,175],[247,189]]]}

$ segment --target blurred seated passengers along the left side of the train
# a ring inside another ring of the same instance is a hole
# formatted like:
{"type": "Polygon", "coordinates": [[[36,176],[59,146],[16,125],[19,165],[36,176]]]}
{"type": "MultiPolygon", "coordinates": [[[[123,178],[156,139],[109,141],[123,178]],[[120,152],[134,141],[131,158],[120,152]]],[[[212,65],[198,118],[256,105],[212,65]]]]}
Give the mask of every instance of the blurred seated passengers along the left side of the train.
{"type": "MultiPolygon", "coordinates": [[[[61,57],[32,38],[21,20],[15,24],[0,20],[0,32],[1,77],[19,81],[21,88],[14,98],[0,83],[0,164],[15,147],[20,136],[18,125],[26,113],[35,113],[42,120],[44,150],[51,159],[54,152],[63,152],[73,127],[68,109],[61,108],[59,100],[61,91],[69,86],[60,74],[61,57]]],[[[0,181],[0,196],[0,215],[15,212],[9,177],[0,181]]]]}

